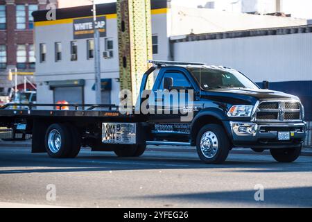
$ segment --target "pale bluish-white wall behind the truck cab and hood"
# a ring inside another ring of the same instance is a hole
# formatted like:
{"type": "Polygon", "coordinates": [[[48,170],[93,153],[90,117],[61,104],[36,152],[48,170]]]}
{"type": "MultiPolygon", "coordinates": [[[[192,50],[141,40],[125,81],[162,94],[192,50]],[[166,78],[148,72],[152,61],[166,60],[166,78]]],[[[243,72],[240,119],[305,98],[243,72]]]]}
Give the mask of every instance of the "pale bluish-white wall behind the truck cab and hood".
{"type": "Polygon", "coordinates": [[[239,69],[255,82],[312,80],[312,33],[174,44],[175,60],[239,69]]]}

